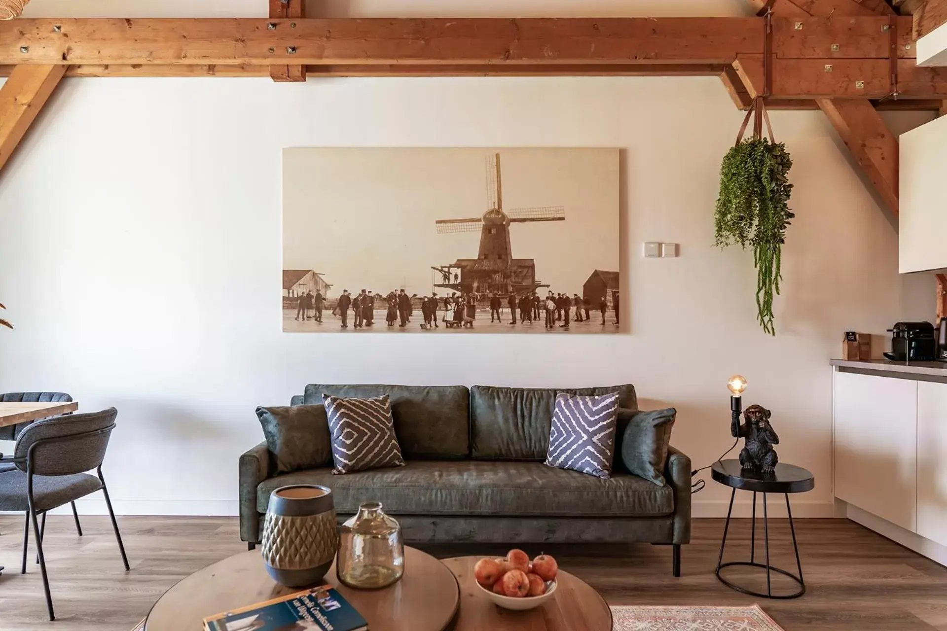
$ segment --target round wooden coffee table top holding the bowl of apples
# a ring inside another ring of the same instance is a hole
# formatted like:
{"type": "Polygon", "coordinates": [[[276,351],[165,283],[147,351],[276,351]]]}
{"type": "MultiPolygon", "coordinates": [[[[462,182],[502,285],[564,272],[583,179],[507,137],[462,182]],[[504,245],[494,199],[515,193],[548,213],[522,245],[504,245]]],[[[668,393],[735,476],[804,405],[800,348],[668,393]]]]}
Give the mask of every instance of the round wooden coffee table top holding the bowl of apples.
{"type": "Polygon", "coordinates": [[[599,592],[563,570],[556,577],[556,595],[545,605],[529,611],[493,605],[474,581],[474,565],[481,558],[458,556],[443,561],[460,584],[460,614],[454,631],[612,631],[612,610],[599,592]]]}

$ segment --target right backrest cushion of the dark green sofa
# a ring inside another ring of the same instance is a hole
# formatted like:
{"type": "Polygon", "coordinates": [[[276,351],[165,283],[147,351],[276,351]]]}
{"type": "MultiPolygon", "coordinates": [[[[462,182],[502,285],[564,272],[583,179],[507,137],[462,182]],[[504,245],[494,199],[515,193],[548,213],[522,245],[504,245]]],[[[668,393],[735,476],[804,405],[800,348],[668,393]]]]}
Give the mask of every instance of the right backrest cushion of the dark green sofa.
{"type": "Polygon", "coordinates": [[[474,460],[545,461],[556,394],[618,393],[618,406],[637,410],[634,386],[599,388],[471,388],[471,457],[474,460]]]}

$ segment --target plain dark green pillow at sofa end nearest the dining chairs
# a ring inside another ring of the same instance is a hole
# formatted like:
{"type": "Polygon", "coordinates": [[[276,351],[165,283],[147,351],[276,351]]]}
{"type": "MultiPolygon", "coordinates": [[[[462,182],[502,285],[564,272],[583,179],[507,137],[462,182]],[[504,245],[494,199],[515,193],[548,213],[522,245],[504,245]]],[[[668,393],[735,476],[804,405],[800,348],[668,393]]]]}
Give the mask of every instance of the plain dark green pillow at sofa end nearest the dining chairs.
{"type": "Polygon", "coordinates": [[[293,473],[332,465],[329,417],[324,405],[257,408],[274,473],[293,473]]]}

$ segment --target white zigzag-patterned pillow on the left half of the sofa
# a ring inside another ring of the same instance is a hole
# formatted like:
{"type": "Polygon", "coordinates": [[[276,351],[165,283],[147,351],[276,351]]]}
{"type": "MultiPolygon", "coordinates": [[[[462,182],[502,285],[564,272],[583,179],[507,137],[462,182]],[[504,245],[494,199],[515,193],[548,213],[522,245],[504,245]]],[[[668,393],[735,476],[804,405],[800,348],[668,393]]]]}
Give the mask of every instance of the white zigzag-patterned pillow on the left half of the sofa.
{"type": "Polygon", "coordinates": [[[333,474],[404,466],[387,394],[370,399],[325,394],[323,400],[332,436],[333,474]]]}

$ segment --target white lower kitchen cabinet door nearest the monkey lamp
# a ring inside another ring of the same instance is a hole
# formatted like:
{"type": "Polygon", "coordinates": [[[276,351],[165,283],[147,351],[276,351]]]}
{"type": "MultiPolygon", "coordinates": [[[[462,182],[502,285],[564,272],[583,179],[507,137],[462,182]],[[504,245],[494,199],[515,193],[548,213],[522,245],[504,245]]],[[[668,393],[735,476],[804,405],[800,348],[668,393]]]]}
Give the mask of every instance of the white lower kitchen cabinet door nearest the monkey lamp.
{"type": "Polygon", "coordinates": [[[834,376],[835,497],[917,532],[918,382],[834,376]]]}

